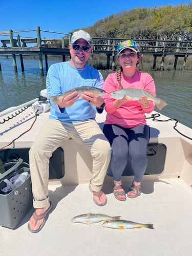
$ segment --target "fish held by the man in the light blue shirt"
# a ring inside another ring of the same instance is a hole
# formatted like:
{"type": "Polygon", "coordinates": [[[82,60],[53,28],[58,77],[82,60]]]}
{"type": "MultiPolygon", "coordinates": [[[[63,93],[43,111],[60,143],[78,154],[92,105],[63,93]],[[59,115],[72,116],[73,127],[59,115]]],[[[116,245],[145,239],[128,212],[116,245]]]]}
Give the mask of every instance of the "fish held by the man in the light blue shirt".
{"type": "MultiPolygon", "coordinates": [[[[81,86],[81,87],[75,87],[63,94],[55,95],[55,96],[50,96],[49,98],[52,100],[53,104],[56,105],[59,99],[65,98],[69,94],[77,92],[77,94],[74,96],[76,97],[78,94],[82,94],[83,92],[92,92],[97,95],[102,95],[105,93],[104,90],[99,89],[97,87],[92,87],[92,86],[81,86]]],[[[72,97],[72,99],[74,98],[72,97]]]]}

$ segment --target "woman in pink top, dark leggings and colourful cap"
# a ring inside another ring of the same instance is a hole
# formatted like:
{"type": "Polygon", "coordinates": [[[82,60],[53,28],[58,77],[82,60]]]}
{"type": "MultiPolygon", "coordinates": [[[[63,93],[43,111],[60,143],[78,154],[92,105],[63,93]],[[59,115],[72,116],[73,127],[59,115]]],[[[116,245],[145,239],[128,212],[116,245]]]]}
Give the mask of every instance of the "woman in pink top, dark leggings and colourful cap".
{"type": "Polygon", "coordinates": [[[141,180],[147,167],[146,148],[150,139],[150,128],[146,124],[145,113],[155,109],[153,101],[146,97],[139,100],[113,99],[110,93],[125,88],[144,89],[155,95],[155,83],[150,74],[137,70],[142,59],[138,46],[133,40],[121,42],[117,47],[120,67],[117,72],[109,74],[104,82],[106,120],[103,133],[110,141],[112,158],[110,171],[113,174],[113,193],[120,201],[126,200],[121,177],[131,155],[134,181],[127,192],[127,197],[135,198],[141,194],[141,180]]]}

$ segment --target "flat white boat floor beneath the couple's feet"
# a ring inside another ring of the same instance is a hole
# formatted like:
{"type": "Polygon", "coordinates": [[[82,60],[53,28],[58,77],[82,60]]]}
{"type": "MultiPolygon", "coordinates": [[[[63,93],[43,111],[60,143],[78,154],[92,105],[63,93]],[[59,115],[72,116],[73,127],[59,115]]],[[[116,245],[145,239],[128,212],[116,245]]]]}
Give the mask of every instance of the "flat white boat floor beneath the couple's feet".
{"type": "MultiPolygon", "coordinates": [[[[124,184],[128,185],[129,182],[124,184]]],[[[93,202],[88,184],[52,184],[49,190],[53,210],[44,228],[36,234],[28,231],[32,209],[16,230],[0,227],[1,256],[185,256],[191,253],[192,187],[179,178],[143,181],[141,196],[125,202],[114,198],[112,184],[104,184],[108,203],[103,207],[93,202]],[[71,222],[74,216],[88,212],[153,223],[154,229],[118,230],[104,228],[102,222],[91,226],[71,222]]]]}

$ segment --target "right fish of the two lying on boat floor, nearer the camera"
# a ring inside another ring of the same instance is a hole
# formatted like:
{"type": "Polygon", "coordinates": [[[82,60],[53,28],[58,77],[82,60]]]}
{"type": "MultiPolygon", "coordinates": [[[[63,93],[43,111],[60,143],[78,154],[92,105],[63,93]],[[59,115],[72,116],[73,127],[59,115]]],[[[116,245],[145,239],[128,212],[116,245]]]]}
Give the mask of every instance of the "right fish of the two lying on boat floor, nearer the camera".
{"type": "Polygon", "coordinates": [[[154,229],[153,224],[142,224],[142,223],[126,221],[126,220],[105,221],[103,223],[103,227],[116,228],[116,229],[131,229],[131,228],[146,227],[146,228],[154,229]]]}

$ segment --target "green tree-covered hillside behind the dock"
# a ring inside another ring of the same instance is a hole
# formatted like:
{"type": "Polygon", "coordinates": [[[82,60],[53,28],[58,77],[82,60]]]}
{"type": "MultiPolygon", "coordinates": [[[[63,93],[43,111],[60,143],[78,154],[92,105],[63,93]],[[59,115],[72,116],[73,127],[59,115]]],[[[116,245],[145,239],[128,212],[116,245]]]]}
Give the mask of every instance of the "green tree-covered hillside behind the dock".
{"type": "Polygon", "coordinates": [[[192,1],[119,12],[82,29],[92,37],[192,40],[192,1]]]}

